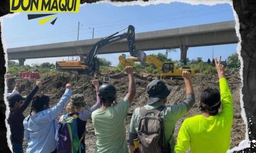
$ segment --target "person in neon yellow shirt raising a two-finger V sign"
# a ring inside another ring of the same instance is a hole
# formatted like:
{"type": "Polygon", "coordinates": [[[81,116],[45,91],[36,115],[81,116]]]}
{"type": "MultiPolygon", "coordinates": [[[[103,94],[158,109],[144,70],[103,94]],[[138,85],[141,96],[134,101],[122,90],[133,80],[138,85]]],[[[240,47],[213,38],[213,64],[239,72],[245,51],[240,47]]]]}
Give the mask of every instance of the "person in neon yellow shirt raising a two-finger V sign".
{"type": "Polygon", "coordinates": [[[191,153],[218,152],[224,153],[230,148],[231,129],[233,122],[233,100],[229,84],[224,76],[225,68],[215,58],[219,77],[219,88],[207,88],[201,94],[200,115],[186,118],[177,136],[175,152],[191,153]],[[219,108],[221,107],[221,112],[219,108]]]}

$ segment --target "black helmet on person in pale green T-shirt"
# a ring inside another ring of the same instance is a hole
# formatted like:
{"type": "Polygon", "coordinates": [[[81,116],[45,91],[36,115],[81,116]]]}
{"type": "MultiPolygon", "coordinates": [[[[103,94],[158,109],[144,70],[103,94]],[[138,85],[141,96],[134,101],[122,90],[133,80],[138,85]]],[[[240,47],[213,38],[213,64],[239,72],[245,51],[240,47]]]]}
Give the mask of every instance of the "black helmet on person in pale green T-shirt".
{"type": "Polygon", "coordinates": [[[103,84],[99,87],[99,97],[104,100],[116,99],[116,88],[110,83],[103,84]]]}

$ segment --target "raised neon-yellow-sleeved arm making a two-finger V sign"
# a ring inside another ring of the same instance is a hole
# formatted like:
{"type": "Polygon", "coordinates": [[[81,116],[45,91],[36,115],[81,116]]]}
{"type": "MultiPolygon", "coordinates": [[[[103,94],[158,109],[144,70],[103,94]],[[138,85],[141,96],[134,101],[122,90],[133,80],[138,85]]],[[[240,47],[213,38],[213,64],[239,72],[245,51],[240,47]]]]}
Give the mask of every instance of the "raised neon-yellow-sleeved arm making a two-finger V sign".
{"type": "Polygon", "coordinates": [[[219,56],[219,61],[215,59],[216,70],[219,76],[219,88],[221,89],[221,107],[222,114],[229,116],[230,119],[233,118],[233,99],[232,94],[229,90],[229,84],[224,76],[225,68],[221,64],[221,56],[219,56]]]}

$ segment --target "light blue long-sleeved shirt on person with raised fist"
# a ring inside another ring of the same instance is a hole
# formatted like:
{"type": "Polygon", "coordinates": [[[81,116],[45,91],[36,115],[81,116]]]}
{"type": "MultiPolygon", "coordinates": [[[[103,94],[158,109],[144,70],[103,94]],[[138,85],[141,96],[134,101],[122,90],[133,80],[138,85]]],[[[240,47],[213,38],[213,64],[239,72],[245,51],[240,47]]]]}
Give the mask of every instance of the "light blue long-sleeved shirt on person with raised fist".
{"type": "Polygon", "coordinates": [[[27,140],[27,152],[49,153],[55,150],[55,132],[58,126],[56,117],[62,112],[65,105],[69,102],[72,90],[66,89],[61,100],[55,107],[32,114],[27,121],[24,121],[24,135],[27,140]]]}

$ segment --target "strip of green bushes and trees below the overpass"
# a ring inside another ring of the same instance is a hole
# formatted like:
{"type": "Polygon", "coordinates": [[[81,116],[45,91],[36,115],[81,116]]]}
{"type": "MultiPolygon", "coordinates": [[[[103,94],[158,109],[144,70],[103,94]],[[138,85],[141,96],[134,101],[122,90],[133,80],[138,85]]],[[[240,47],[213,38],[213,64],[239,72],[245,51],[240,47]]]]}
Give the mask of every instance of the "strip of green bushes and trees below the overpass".
{"type": "MultiPolygon", "coordinates": [[[[166,59],[165,54],[150,54],[149,56],[155,56],[162,62],[173,61],[172,59],[166,59]]],[[[117,59],[118,60],[118,59],[117,59]]],[[[208,64],[207,62],[202,61],[202,57],[197,57],[196,59],[186,59],[184,61],[173,61],[177,68],[190,67],[195,70],[195,74],[212,74],[216,73],[215,66],[212,63],[208,64]],[[185,64],[186,63],[186,64],[185,64]]],[[[106,60],[105,58],[99,58],[100,72],[101,74],[109,74],[115,72],[122,72],[125,67],[122,64],[118,64],[116,67],[111,67],[111,61],[106,60]]],[[[240,60],[238,54],[234,53],[231,56],[227,57],[227,70],[229,72],[234,72],[240,70],[240,60]]],[[[136,72],[145,72],[151,73],[154,75],[159,75],[160,72],[152,63],[146,63],[145,66],[141,65],[138,62],[133,63],[134,71],[136,72]]],[[[55,70],[55,64],[51,63],[42,63],[42,64],[33,64],[33,65],[24,65],[19,67],[18,63],[15,61],[8,61],[8,73],[12,75],[18,75],[20,71],[37,71],[40,72],[41,77],[61,74],[60,71],[55,70]]]]}

